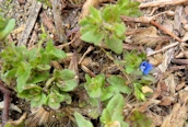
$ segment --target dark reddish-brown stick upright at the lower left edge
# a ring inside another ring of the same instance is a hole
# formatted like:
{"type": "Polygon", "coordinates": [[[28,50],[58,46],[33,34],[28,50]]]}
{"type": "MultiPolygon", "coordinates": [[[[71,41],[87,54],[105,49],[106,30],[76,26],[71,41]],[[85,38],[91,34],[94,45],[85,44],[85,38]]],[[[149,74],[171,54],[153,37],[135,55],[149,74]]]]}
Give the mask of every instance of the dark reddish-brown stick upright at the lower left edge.
{"type": "Polygon", "coordinates": [[[2,83],[2,81],[0,81],[0,91],[3,93],[3,101],[4,101],[4,108],[2,111],[2,126],[5,125],[5,123],[8,122],[9,118],[9,107],[10,107],[10,95],[11,95],[11,91],[9,91],[2,83]]]}

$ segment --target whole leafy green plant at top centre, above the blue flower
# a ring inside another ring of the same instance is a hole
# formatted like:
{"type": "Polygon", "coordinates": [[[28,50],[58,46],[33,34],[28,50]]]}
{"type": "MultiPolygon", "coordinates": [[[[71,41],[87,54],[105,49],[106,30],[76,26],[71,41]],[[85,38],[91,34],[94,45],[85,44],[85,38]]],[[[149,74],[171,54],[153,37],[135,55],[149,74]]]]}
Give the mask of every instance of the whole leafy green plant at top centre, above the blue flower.
{"type": "Polygon", "coordinates": [[[91,14],[80,21],[81,39],[94,45],[103,41],[116,54],[122,53],[126,25],[120,15],[140,15],[139,2],[119,0],[116,4],[107,4],[102,10],[90,8],[91,14]]]}

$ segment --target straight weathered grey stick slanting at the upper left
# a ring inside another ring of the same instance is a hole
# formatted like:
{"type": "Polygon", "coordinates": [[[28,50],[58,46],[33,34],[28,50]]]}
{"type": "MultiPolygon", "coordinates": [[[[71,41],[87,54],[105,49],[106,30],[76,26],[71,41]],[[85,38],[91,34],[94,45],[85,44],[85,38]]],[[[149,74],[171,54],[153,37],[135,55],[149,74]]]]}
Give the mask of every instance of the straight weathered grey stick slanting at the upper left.
{"type": "Polygon", "coordinates": [[[30,37],[30,34],[31,34],[31,32],[35,25],[36,19],[38,16],[38,12],[42,8],[42,3],[36,2],[36,0],[34,0],[32,4],[33,4],[33,7],[30,11],[30,16],[28,16],[28,20],[26,22],[25,30],[23,31],[22,36],[21,36],[17,45],[26,45],[27,39],[30,37]]]}

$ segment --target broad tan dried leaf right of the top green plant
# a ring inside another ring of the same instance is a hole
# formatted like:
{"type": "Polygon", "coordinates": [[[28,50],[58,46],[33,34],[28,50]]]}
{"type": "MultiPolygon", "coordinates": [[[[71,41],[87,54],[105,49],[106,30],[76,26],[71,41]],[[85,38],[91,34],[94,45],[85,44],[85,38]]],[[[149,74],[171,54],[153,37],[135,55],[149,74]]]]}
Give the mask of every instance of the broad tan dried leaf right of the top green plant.
{"type": "Polygon", "coordinates": [[[158,45],[165,41],[168,41],[168,37],[158,36],[156,32],[157,31],[154,26],[138,30],[137,34],[132,35],[132,41],[136,44],[146,45],[150,47],[154,47],[155,45],[158,45]]]}

